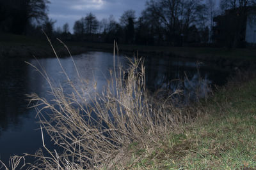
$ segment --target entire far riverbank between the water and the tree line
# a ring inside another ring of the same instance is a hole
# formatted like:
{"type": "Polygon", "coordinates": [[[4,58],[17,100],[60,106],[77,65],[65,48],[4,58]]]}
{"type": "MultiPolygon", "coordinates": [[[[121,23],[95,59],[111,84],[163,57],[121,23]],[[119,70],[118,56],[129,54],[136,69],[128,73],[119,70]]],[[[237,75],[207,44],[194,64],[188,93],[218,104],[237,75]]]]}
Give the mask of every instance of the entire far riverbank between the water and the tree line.
{"type": "MultiPolygon", "coordinates": [[[[65,42],[72,55],[88,52],[113,52],[112,43],[65,42]]],[[[56,39],[52,44],[60,57],[67,57],[67,49],[56,39]]],[[[200,47],[173,47],[173,46],[145,46],[145,45],[118,45],[120,53],[124,55],[140,56],[171,56],[184,59],[209,61],[220,66],[255,67],[256,49],[237,48],[200,48],[200,47]]],[[[55,57],[46,38],[35,39],[27,36],[4,34],[0,37],[0,57],[55,57]]]]}

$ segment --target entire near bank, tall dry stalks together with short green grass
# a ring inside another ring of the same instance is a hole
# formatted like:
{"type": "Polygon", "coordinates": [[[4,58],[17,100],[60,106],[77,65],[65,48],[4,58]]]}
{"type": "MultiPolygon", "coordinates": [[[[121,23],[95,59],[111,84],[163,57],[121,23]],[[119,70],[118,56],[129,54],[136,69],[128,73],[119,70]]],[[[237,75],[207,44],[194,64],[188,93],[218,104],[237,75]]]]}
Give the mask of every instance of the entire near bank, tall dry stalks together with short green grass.
{"type": "Polygon", "coordinates": [[[68,94],[35,67],[49,83],[52,99],[28,96],[29,106],[38,112],[43,139],[42,150],[25,155],[37,158],[32,169],[256,167],[255,78],[244,81],[246,76],[240,74],[239,81],[230,81],[208,101],[177,107],[172,96],[182,95],[179,91],[167,98],[151,94],[143,60],[130,62],[127,69],[115,63],[118,69],[110,71],[103,92],[97,91],[97,82],[83,80],[79,71],[72,82],[61,67],[68,94]],[[63,152],[47,149],[44,132],[63,152]]]}

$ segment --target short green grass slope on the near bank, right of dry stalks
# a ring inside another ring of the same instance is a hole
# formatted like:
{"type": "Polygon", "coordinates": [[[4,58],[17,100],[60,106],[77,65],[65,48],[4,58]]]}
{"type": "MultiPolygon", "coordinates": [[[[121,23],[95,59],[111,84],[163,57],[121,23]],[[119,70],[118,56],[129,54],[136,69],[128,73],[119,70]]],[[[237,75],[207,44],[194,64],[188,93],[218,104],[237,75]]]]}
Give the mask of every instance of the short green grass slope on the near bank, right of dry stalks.
{"type": "Polygon", "coordinates": [[[221,90],[202,116],[172,132],[151,153],[136,154],[131,169],[254,169],[256,79],[221,90]],[[140,157],[140,159],[138,159],[140,157]]]}

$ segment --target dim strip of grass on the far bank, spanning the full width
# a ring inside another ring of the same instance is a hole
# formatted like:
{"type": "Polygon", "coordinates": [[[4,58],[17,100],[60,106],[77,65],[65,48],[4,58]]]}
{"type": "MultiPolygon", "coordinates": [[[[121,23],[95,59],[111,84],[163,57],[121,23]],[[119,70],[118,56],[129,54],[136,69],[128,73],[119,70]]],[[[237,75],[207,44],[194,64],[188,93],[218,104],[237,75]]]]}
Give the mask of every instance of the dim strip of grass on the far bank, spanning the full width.
{"type": "MultiPolygon", "coordinates": [[[[58,52],[65,51],[65,48],[61,48],[62,45],[53,40],[53,45],[58,52]]],[[[113,43],[88,43],[67,41],[68,48],[72,54],[83,53],[87,51],[107,51],[113,52],[113,43]]],[[[39,53],[41,51],[51,51],[49,43],[46,38],[33,38],[29,36],[20,36],[15,34],[0,34],[0,47],[5,48],[15,46],[17,50],[20,46],[35,47],[35,51],[39,53]]],[[[119,44],[120,53],[126,53],[131,55],[138,50],[140,55],[159,56],[159,55],[177,55],[181,57],[196,58],[201,60],[213,60],[218,61],[220,59],[234,59],[234,60],[256,60],[256,49],[249,48],[237,48],[228,50],[227,48],[201,48],[201,47],[173,47],[173,46],[146,46],[146,45],[122,45],[119,44]]],[[[32,50],[33,51],[33,50],[32,50]]],[[[35,53],[36,53],[35,52],[35,53]]],[[[65,53],[67,55],[67,53],[65,53]]],[[[38,56],[45,57],[45,56],[38,56]]],[[[54,55],[52,55],[54,57],[54,55]]]]}

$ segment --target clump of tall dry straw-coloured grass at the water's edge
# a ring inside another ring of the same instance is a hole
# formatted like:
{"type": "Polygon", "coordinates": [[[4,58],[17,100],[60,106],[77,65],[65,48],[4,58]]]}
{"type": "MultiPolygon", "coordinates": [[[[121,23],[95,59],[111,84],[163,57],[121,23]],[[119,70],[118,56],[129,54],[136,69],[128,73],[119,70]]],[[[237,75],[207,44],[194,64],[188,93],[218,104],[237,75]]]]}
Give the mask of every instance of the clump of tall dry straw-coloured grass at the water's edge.
{"type": "MultiPolygon", "coordinates": [[[[118,57],[115,51],[114,62],[118,57]]],[[[54,53],[58,59],[55,50],[54,53]]],[[[81,78],[79,71],[79,85],[72,82],[59,60],[72,88],[68,94],[61,85],[52,83],[44,68],[31,65],[44,76],[51,88],[51,101],[37,94],[29,95],[31,107],[36,109],[42,125],[43,143],[43,132],[46,131],[62,151],[50,152],[44,144],[44,149],[33,155],[38,160],[30,164],[29,169],[124,167],[129,164],[127,148],[132,143],[139,143],[141,149],[150,153],[152,146],[163,145],[164,138],[168,142],[168,134],[177,128],[177,122],[189,120],[191,111],[173,106],[172,97],[159,99],[148,93],[142,59],[129,59],[129,63],[128,69],[115,63],[118,68],[109,71],[111,78],[106,87],[97,92],[97,83],[92,89],[87,89],[88,82],[81,78]],[[93,92],[89,92],[91,90],[93,92]],[[85,93],[88,94],[86,98],[85,93]]]]}

